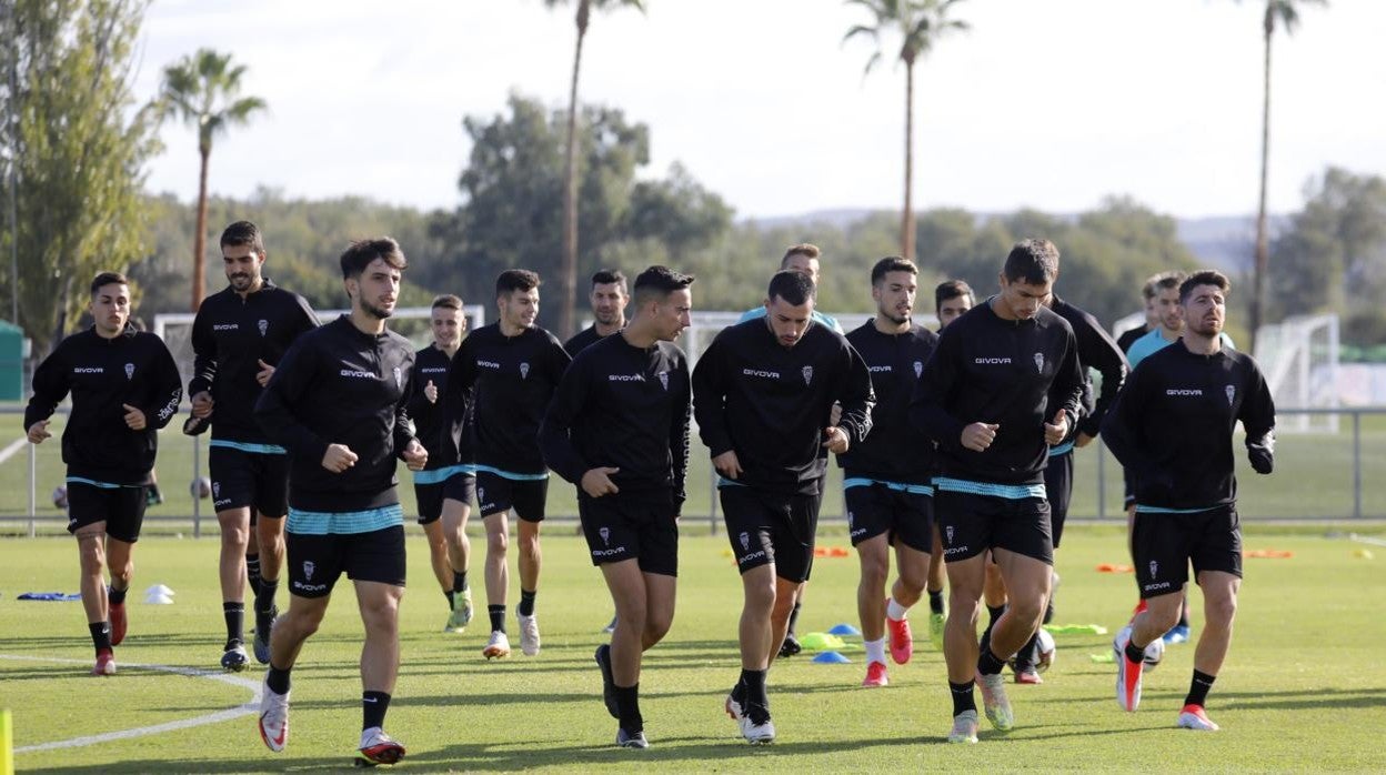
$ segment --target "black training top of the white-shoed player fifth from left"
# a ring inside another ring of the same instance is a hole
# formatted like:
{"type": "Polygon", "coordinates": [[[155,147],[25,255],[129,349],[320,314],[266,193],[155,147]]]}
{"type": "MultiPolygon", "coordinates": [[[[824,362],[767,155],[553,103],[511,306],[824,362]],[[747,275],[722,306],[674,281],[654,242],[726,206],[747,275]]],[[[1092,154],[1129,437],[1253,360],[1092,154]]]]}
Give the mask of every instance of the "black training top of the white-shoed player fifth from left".
{"type": "Polygon", "coordinates": [[[539,423],[570,360],[559,340],[538,326],[507,337],[500,323],[491,323],[463,340],[448,373],[444,412],[460,433],[471,391],[471,451],[478,466],[513,474],[546,471],[539,423]]]}

